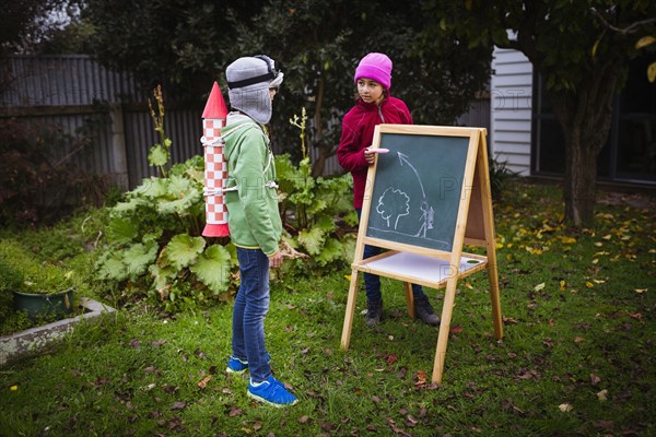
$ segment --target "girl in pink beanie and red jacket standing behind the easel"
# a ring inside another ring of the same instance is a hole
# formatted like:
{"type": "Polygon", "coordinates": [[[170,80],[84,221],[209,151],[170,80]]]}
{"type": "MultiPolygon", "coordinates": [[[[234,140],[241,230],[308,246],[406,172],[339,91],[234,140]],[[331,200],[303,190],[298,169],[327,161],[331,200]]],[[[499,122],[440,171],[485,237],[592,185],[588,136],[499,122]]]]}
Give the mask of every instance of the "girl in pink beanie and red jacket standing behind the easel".
{"type": "MultiPolygon", "coordinates": [[[[375,153],[368,152],[374,139],[374,129],[379,123],[412,125],[412,116],[403,101],[389,94],[391,86],[391,60],[387,55],[366,55],[355,69],[358,101],[342,120],[342,134],[337,149],[339,164],[353,176],[353,206],[358,216],[362,211],[364,188],[368,166],[374,164],[375,153]]],[[[379,252],[379,248],[364,247],[364,259],[379,252]]],[[[367,326],[377,324],[383,317],[383,295],[380,277],[364,273],[366,291],[367,326]]],[[[421,285],[413,284],[414,314],[429,324],[440,324],[421,285]]]]}

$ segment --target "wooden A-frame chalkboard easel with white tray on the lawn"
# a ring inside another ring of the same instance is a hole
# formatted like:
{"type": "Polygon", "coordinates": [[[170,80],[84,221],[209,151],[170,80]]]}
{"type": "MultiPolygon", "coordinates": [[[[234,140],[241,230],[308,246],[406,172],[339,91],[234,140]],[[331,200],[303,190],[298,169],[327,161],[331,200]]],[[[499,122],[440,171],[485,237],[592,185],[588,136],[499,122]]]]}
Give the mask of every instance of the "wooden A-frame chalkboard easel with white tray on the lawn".
{"type": "Polygon", "coordinates": [[[389,152],[367,174],[341,347],[349,349],[360,272],[402,281],[410,317],[411,284],[445,287],[432,377],[442,382],[458,280],[488,270],[494,336],[503,336],[485,129],[379,125],[372,147],[389,152]],[[465,244],[487,256],[462,252],[465,244]],[[387,250],[363,259],[365,245],[387,250]]]}

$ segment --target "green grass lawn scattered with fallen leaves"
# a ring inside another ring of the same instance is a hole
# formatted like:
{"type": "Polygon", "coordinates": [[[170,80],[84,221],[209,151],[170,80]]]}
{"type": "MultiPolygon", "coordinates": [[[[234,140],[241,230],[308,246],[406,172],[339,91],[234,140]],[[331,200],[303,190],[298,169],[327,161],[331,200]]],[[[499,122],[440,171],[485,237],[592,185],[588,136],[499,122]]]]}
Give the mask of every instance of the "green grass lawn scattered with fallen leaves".
{"type": "MultiPolygon", "coordinates": [[[[162,319],[121,310],[0,368],[2,436],[656,435],[656,211],[599,193],[567,232],[559,187],[517,182],[494,204],[504,339],[484,272],[461,281],[443,383],[437,328],[384,279],[385,319],[339,347],[349,269],[273,283],[267,346],[300,403],[263,406],[230,376],[232,306],[162,319]]],[[[443,290],[427,290],[436,311],[443,290]]],[[[112,305],[112,303],[108,303],[112,305]]]]}

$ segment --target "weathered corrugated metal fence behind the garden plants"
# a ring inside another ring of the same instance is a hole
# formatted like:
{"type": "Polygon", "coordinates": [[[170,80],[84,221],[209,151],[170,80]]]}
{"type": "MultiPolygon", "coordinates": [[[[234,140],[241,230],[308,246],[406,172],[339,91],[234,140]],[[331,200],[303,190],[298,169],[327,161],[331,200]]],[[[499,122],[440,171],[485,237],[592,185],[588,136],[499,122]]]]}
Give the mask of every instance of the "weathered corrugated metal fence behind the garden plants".
{"type": "MultiPolygon", "coordinates": [[[[148,164],[148,152],[159,141],[147,105],[151,96],[141,94],[129,74],[109,71],[85,55],[17,55],[0,64],[0,81],[8,81],[0,88],[0,118],[16,117],[69,137],[70,144],[57,153],[79,168],[108,175],[124,189],[156,175],[148,164]],[[81,134],[91,140],[83,149],[73,141],[81,134]]],[[[204,102],[186,106],[165,102],[165,106],[172,161],[201,154],[204,102]]],[[[458,125],[489,131],[489,98],[472,102],[458,125]]],[[[311,150],[311,157],[317,155],[311,150]]],[[[342,172],[335,156],[327,160],[325,175],[342,172]]]]}

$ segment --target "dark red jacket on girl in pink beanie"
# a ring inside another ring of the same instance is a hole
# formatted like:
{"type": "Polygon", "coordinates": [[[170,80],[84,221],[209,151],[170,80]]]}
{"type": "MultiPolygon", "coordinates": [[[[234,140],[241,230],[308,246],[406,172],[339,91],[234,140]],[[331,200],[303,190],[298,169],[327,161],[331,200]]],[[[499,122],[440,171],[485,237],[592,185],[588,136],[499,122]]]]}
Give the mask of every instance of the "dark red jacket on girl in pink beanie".
{"type": "Polygon", "coordinates": [[[386,97],[380,106],[361,98],[342,121],[342,135],[337,149],[339,164],[353,176],[353,206],[362,208],[368,164],[364,149],[372,145],[374,128],[380,123],[412,125],[412,116],[403,101],[386,97]]]}

